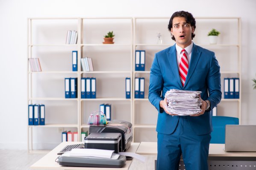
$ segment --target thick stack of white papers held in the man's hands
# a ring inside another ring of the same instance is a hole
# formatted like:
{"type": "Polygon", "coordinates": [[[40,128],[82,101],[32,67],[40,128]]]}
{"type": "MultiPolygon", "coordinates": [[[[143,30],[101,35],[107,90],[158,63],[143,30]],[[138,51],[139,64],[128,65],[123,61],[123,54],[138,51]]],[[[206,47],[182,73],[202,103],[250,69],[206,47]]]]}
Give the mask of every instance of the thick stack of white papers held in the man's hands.
{"type": "Polygon", "coordinates": [[[168,102],[166,110],[179,116],[188,116],[202,112],[199,94],[201,91],[182,91],[171,89],[165,94],[168,102]]]}

